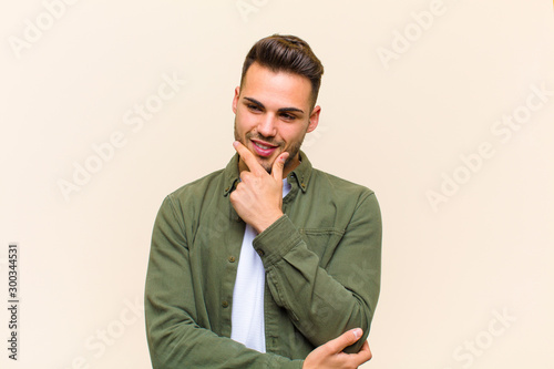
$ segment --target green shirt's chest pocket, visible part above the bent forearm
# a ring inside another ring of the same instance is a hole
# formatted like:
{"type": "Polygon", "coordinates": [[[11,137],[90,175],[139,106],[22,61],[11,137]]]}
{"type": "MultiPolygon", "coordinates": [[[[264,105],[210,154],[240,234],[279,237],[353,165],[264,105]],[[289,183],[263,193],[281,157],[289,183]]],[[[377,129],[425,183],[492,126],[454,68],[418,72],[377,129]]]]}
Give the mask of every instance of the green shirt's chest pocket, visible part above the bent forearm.
{"type": "Polygon", "coordinates": [[[308,249],[319,257],[319,266],[324,269],[327,268],[327,264],[342,239],[345,230],[337,228],[301,228],[299,232],[308,249]]]}

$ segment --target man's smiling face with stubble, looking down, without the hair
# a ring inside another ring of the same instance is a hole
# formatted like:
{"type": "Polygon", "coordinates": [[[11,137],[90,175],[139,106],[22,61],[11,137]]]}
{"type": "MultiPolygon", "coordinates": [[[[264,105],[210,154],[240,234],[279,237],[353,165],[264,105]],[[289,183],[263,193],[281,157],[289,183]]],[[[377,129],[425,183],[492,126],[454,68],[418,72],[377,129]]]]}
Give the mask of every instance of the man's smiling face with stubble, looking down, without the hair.
{"type": "MultiPolygon", "coordinates": [[[[298,164],[298,151],[306,133],[316,129],[320,107],[311,106],[311,83],[299,74],[273,72],[253,63],[242,88],[235,89],[235,140],[245,145],[258,163],[271,172],[283,152],[289,157],[283,175],[298,164]]],[[[239,170],[247,170],[240,160],[239,170]]]]}

